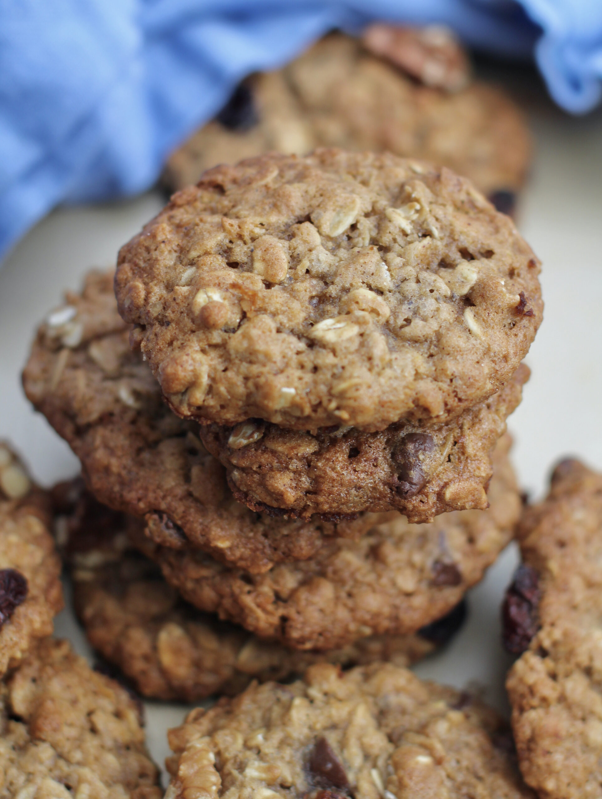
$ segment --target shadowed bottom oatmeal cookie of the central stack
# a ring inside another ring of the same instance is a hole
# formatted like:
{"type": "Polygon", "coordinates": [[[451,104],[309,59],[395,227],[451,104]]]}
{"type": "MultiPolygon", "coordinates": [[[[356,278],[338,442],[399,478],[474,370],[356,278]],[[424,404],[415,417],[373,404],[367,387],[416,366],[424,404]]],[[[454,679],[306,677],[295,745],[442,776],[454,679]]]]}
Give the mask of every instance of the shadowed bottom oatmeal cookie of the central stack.
{"type": "Polygon", "coordinates": [[[129,543],[130,536],[142,534],[138,519],[110,511],[81,493],[81,486],[74,500],[57,517],[57,535],[71,570],[77,616],[92,646],[149,698],[194,702],[237,694],[253,678],[300,676],[325,659],[340,666],[378,660],[407,666],[446,643],[465,615],[458,606],[418,634],[375,635],[323,653],[287,650],[181,600],[158,566],[129,543]]]}

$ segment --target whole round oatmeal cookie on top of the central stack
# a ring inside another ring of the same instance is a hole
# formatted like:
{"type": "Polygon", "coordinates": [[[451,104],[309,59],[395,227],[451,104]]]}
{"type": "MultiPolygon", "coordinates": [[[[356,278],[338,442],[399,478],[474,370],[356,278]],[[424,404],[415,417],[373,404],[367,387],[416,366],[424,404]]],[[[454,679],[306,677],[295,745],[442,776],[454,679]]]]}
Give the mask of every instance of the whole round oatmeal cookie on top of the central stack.
{"type": "Polygon", "coordinates": [[[319,150],[219,166],[121,248],[121,315],[173,410],[382,430],[516,370],[539,262],[449,169],[319,150]]]}

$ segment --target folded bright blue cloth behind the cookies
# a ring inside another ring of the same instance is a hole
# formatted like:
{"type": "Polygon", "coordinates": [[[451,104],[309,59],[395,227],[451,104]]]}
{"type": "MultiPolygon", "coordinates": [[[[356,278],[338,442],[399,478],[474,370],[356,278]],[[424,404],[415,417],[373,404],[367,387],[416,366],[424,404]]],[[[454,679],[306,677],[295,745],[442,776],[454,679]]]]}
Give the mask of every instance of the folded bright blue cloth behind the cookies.
{"type": "Polygon", "coordinates": [[[565,109],[600,101],[600,0],[5,0],[0,256],[58,203],[147,189],[244,75],[374,20],[443,22],[469,46],[535,54],[565,109]]]}

